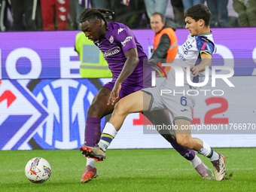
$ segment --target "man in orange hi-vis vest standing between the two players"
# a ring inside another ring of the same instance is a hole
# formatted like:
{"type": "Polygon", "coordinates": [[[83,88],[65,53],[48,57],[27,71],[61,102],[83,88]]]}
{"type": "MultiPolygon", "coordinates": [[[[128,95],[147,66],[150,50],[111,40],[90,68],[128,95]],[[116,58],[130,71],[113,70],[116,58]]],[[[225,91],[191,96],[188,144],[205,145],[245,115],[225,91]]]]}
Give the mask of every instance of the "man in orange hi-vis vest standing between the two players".
{"type": "MultiPolygon", "coordinates": [[[[151,29],[155,32],[154,52],[151,59],[154,59],[153,62],[155,63],[159,59],[161,62],[172,63],[178,53],[175,23],[172,20],[166,20],[163,14],[156,12],[151,16],[151,29]]],[[[170,67],[165,67],[164,70],[165,72],[169,72],[170,67]]]]}

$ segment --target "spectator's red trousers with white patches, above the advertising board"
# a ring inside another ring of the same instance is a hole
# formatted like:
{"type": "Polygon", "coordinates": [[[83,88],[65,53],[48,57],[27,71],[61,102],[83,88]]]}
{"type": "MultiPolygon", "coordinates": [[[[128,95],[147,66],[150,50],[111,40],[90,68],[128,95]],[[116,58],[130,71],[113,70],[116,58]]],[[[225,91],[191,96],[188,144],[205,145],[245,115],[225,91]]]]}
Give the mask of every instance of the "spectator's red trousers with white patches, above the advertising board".
{"type": "Polygon", "coordinates": [[[68,29],[69,0],[41,0],[41,13],[44,31],[55,30],[55,20],[58,30],[68,29]]]}

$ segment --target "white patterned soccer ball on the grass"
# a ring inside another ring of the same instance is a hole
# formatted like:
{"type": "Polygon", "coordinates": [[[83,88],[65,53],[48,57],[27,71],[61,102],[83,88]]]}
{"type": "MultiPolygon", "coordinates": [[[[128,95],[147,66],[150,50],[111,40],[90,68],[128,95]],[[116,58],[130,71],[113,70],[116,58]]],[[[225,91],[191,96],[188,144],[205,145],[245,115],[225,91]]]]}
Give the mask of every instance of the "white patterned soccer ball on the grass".
{"type": "Polygon", "coordinates": [[[43,183],[50,178],[50,163],[44,158],[35,157],[29,160],[25,166],[25,175],[33,183],[43,183]]]}

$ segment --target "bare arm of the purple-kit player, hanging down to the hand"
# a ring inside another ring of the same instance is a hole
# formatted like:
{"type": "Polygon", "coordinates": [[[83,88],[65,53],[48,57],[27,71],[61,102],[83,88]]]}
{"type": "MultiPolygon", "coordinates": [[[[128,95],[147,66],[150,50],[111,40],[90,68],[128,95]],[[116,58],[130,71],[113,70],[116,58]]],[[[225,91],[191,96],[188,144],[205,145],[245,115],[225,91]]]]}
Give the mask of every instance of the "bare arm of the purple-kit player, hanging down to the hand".
{"type": "Polygon", "coordinates": [[[126,62],[124,63],[123,69],[114,84],[113,90],[111,91],[111,95],[108,99],[108,105],[114,105],[115,100],[119,97],[121,84],[133,73],[139,63],[139,56],[136,48],[127,50],[125,56],[126,62]]]}

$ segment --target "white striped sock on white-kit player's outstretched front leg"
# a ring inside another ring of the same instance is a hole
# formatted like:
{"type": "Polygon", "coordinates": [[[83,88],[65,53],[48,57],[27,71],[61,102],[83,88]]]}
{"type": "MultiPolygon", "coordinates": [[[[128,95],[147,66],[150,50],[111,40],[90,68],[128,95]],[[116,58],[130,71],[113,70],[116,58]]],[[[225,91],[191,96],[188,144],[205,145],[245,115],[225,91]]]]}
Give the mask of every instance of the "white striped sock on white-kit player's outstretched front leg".
{"type": "Polygon", "coordinates": [[[117,135],[117,130],[115,130],[114,126],[109,122],[106,123],[102,131],[102,136],[98,143],[99,148],[102,148],[103,151],[106,151],[106,149],[111,144],[112,140],[116,135],[117,135]]]}

